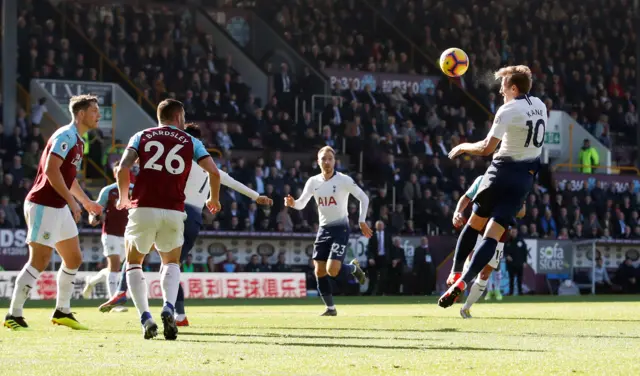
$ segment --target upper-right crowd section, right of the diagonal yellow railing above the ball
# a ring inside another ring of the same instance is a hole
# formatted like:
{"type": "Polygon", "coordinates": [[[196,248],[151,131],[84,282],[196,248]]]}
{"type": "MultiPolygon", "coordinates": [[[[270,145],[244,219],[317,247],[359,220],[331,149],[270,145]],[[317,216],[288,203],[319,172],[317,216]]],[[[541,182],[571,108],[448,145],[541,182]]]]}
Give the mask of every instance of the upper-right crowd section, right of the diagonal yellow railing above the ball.
{"type": "MultiPolygon", "coordinates": [[[[570,113],[605,146],[636,149],[636,42],[627,1],[376,3],[418,45],[467,51],[468,81],[484,81],[502,65],[529,65],[533,95],[570,113]]],[[[626,155],[619,162],[633,164],[626,155]]]]}

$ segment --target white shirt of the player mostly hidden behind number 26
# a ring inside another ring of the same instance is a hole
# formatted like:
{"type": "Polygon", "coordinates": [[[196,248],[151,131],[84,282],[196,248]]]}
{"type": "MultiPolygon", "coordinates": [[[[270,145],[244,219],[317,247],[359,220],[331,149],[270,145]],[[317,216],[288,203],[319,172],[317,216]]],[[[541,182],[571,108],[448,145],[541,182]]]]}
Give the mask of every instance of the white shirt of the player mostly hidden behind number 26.
{"type": "MultiPolygon", "coordinates": [[[[242,193],[254,201],[260,196],[258,192],[240,183],[226,172],[222,170],[218,170],[218,172],[220,173],[220,184],[225,187],[242,193]]],[[[191,172],[189,172],[189,177],[187,178],[187,186],[184,188],[184,203],[202,209],[207,202],[207,198],[209,198],[209,193],[211,193],[209,189],[209,174],[197,162],[192,161],[191,172]]]]}

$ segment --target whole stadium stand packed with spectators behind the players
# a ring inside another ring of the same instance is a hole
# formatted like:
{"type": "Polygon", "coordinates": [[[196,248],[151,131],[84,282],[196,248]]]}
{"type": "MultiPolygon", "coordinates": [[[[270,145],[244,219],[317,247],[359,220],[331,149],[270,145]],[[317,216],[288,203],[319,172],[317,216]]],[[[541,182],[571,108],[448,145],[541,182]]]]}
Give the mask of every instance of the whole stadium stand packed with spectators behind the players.
{"type": "MultiPolygon", "coordinates": [[[[637,146],[626,142],[633,140],[637,125],[634,42],[631,16],[622,3],[607,1],[595,9],[576,1],[512,8],[466,2],[455,12],[436,2],[424,4],[433,6],[384,0],[355,5],[258,2],[254,10],[274,21],[274,28],[317,69],[434,75],[439,72],[430,58],[444,46],[456,44],[470,55],[471,69],[462,80],[442,79],[426,94],[335,86],[335,101],[321,108],[321,118],[306,111],[296,121],[300,109],[278,96],[267,103],[255,99],[232,59],[218,55],[213,38],[197,30],[179,5],[22,1],[19,82],[25,88],[38,77],[116,82],[150,114],[166,97],[184,101],[188,120],[200,124],[207,146],[222,151],[220,167],[275,202],[265,209],[225,192],[223,212],[216,217],[204,213],[208,230],[315,231],[313,201],[301,212],[283,208],[282,201],[288,193],[299,195],[317,171],[309,150],[330,145],[340,153],[338,170],[350,173],[371,197],[372,223],[382,220],[402,235],[455,234],[455,203],[484,172],[486,160],[451,162],[446,154],[459,142],[484,137],[501,104],[488,72],[514,61],[532,66],[533,94],[545,98],[549,108],[569,112],[613,148],[620,165],[634,160],[637,146]],[[523,23],[526,27],[503,22],[520,13],[535,17],[523,23]],[[621,21],[599,21],[611,16],[621,21]],[[446,28],[449,21],[455,29],[446,28]],[[506,26],[488,32],[487,25],[494,24],[506,26]],[[528,28],[548,32],[527,44],[528,28]]],[[[304,73],[294,77],[293,88],[296,95],[309,96],[304,73]]],[[[36,125],[41,117],[37,106],[18,111],[20,130],[0,139],[0,228],[24,227],[23,198],[45,140],[36,125]]],[[[107,154],[117,147],[99,134],[90,141],[87,156],[109,175],[107,154]]],[[[640,196],[632,189],[620,193],[597,187],[576,194],[550,181],[541,178],[534,187],[527,216],[518,223],[521,234],[640,239],[640,196]]],[[[95,187],[87,190],[96,193],[95,187]]],[[[357,202],[349,210],[357,231],[357,202]]]]}

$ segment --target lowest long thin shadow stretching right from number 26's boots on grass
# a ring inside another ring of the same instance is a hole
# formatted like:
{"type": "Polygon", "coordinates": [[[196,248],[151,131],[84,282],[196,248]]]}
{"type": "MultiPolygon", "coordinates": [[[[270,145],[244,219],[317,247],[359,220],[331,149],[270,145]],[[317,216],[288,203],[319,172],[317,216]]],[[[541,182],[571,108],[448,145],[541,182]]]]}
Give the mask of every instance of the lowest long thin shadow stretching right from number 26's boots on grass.
{"type": "MultiPolygon", "coordinates": [[[[184,333],[183,333],[184,334],[184,333]]],[[[379,349],[379,350],[451,350],[451,351],[508,351],[508,352],[533,352],[543,353],[545,350],[529,349],[504,349],[494,347],[473,347],[473,346],[403,346],[403,345],[357,345],[347,343],[306,343],[306,342],[267,342],[267,341],[205,341],[200,339],[179,339],[181,342],[194,343],[227,343],[233,345],[266,345],[266,346],[288,346],[288,347],[322,347],[322,348],[351,348],[351,349],[379,349]]]]}

